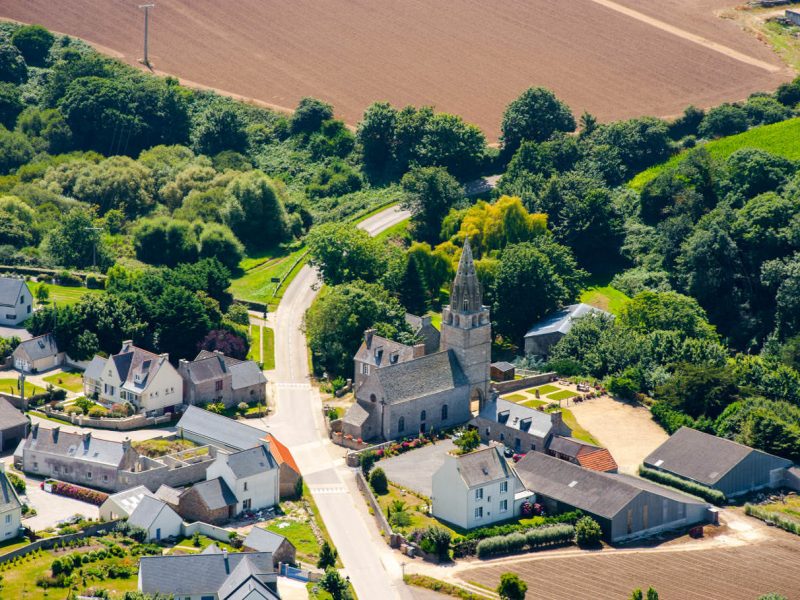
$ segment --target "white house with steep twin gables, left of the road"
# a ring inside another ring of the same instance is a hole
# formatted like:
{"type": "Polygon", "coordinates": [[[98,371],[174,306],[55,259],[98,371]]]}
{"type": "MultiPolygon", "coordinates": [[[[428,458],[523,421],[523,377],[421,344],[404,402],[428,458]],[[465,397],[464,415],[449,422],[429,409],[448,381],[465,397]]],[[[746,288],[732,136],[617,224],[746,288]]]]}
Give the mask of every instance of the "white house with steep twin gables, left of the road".
{"type": "Polygon", "coordinates": [[[86,379],[84,391],[96,391],[103,404],[130,402],[138,412],[162,414],[183,403],[183,378],[167,354],[153,354],[127,340],[118,354],[105,359],[99,374],[97,366],[93,359],[92,377],[86,379]]]}

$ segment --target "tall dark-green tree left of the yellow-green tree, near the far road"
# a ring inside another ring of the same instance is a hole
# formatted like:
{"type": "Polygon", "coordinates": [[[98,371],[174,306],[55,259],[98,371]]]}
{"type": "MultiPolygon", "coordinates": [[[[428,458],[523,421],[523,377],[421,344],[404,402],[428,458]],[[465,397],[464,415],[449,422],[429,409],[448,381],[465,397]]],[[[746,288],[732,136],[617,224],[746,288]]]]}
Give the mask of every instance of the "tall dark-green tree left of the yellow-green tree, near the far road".
{"type": "Polygon", "coordinates": [[[442,221],[453,206],[464,199],[456,179],[440,167],[420,167],[403,176],[404,205],[411,211],[416,239],[435,243],[442,221]]]}

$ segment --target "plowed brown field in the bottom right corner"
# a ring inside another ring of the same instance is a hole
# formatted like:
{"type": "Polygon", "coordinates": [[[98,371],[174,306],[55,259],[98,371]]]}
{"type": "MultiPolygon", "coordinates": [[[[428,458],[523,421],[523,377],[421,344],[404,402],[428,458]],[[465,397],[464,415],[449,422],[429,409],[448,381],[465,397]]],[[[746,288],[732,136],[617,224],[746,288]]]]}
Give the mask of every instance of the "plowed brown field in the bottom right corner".
{"type": "Polygon", "coordinates": [[[494,589],[513,571],[530,600],[622,600],[653,586],[662,600],[755,600],[775,592],[800,598],[800,542],[781,540],[705,550],[593,553],[464,571],[459,577],[494,589]]]}

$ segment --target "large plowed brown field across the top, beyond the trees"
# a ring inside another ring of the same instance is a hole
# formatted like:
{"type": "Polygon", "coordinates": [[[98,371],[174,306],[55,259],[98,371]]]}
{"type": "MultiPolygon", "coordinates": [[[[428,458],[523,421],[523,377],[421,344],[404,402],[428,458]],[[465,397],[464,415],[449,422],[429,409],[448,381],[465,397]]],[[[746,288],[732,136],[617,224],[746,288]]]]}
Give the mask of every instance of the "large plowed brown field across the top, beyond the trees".
{"type": "MultiPolygon", "coordinates": [[[[137,4],[4,0],[0,16],[76,35],[135,63],[137,4]]],[[[158,71],[277,106],[317,96],[350,123],[375,100],[432,104],[495,137],[505,105],[531,85],[554,89],[576,113],[615,119],[738,100],[791,76],[766,46],[714,15],[725,0],[156,4],[150,57],[158,71]]]]}

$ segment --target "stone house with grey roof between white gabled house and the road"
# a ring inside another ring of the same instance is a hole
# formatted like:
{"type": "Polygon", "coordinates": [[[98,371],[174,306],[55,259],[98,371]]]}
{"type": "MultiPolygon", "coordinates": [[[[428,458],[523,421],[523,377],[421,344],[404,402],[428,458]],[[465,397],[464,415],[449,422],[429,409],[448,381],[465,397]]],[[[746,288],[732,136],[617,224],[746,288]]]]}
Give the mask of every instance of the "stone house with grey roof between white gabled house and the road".
{"type": "Polygon", "coordinates": [[[185,404],[240,402],[266,399],[267,378],[252,360],[237,360],[221,352],[203,350],[193,361],[181,359],[178,372],[183,377],[185,404]]]}

